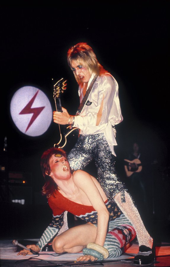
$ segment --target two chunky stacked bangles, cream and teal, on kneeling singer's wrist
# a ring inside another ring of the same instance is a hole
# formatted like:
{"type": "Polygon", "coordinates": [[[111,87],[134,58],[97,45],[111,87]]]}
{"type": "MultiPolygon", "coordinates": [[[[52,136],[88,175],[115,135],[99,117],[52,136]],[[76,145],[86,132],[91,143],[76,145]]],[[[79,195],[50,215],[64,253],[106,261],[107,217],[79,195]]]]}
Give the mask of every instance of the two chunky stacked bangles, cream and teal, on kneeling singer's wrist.
{"type": "Polygon", "coordinates": [[[109,257],[108,249],[96,243],[87,244],[87,247],[83,249],[83,254],[94,256],[98,260],[107,259],[109,257]]]}

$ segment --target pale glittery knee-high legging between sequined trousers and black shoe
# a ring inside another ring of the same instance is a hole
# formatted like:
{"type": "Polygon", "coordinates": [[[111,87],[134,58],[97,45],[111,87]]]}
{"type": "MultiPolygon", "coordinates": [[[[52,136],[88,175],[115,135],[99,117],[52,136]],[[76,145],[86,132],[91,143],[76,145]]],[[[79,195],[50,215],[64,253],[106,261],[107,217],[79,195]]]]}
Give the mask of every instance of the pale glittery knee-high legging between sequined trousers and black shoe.
{"type": "Polygon", "coordinates": [[[142,222],[142,219],[139,215],[139,212],[137,208],[134,206],[133,201],[131,200],[131,197],[129,196],[127,192],[125,192],[125,199],[126,199],[126,203],[122,203],[120,194],[117,194],[115,197],[115,202],[118,205],[118,207],[121,209],[121,211],[124,213],[124,215],[132,223],[137,233],[139,246],[145,245],[146,247],[152,248],[153,239],[147,232],[142,222]]]}

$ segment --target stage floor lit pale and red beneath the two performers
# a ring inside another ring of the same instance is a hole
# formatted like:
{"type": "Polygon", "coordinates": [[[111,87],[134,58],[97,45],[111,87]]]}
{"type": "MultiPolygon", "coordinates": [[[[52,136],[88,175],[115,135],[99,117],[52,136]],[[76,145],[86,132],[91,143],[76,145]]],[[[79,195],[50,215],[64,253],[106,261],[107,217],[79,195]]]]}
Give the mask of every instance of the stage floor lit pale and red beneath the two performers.
{"type": "MultiPolygon", "coordinates": [[[[38,239],[24,239],[18,240],[20,244],[35,244],[38,239]]],[[[0,255],[1,267],[7,266],[134,266],[133,258],[134,255],[138,252],[138,244],[132,244],[132,246],[126,251],[124,255],[119,258],[109,258],[102,262],[82,262],[76,263],[76,258],[78,256],[83,255],[82,253],[71,254],[66,253],[63,255],[57,255],[55,252],[40,252],[38,257],[36,255],[27,255],[27,256],[17,256],[17,252],[20,251],[21,248],[12,244],[12,240],[1,240],[0,241],[0,255]],[[35,257],[35,258],[34,258],[35,257]],[[22,261],[24,260],[24,261],[22,261]],[[81,265],[80,265],[81,264],[81,265]]],[[[161,243],[156,247],[156,262],[150,266],[170,266],[170,244],[169,243],[161,243]]]]}

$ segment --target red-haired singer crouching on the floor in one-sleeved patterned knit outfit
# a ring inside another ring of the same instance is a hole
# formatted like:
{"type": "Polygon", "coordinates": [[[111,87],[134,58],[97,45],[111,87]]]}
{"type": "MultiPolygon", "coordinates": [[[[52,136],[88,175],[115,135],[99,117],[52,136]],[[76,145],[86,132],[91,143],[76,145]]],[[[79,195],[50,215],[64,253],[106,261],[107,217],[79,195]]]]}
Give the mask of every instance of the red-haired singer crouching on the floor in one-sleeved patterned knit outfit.
{"type": "MultiPolygon", "coordinates": [[[[78,257],[77,261],[119,257],[126,251],[136,232],[133,224],[119,208],[119,201],[110,202],[99,182],[87,172],[77,170],[72,173],[66,153],[61,149],[46,150],[41,157],[41,169],[46,180],[42,193],[48,198],[53,218],[39,242],[36,245],[28,245],[28,249],[39,252],[52,241],[52,248],[56,253],[83,251],[84,256],[78,257]],[[86,223],[59,232],[66,220],[65,211],[86,223]]],[[[131,198],[126,192],[125,194],[132,206],[131,198]]],[[[136,220],[139,220],[137,212],[135,216],[136,220]]],[[[147,237],[143,223],[138,223],[143,238],[147,237]]],[[[152,261],[152,252],[148,250],[146,253],[147,256],[136,256],[144,257],[145,264],[152,261]]],[[[24,249],[17,255],[27,254],[31,252],[24,249]]]]}

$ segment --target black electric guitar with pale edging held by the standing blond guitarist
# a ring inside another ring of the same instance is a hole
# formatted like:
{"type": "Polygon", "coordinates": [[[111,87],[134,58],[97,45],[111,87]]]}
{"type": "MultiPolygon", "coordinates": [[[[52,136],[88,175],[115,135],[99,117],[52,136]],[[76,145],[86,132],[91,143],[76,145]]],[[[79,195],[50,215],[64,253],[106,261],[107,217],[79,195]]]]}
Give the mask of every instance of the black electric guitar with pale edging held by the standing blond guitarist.
{"type": "MultiPolygon", "coordinates": [[[[55,101],[56,111],[58,112],[62,112],[60,95],[64,92],[64,90],[66,90],[66,82],[67,80],[61,78],[58,82],[56,82],[56,84],[54,84],[53,98],[55,101]]],[[[66,127],[66,133],[62,133],[60,124],[58,125],[60,131],[60,141],[57,144],[54,144],[54,147],[64,148],[65,151],[68,151],[74,146],[74,144],[76,144],[79,135],[79,129],[76,127],[71,128],[69,125],[66,127]],[[71,134],[71,136],[69,136],[69,134],[71,134]],[[68,136],[70,137],[69,139],[67,139],[68,136]]]]}

